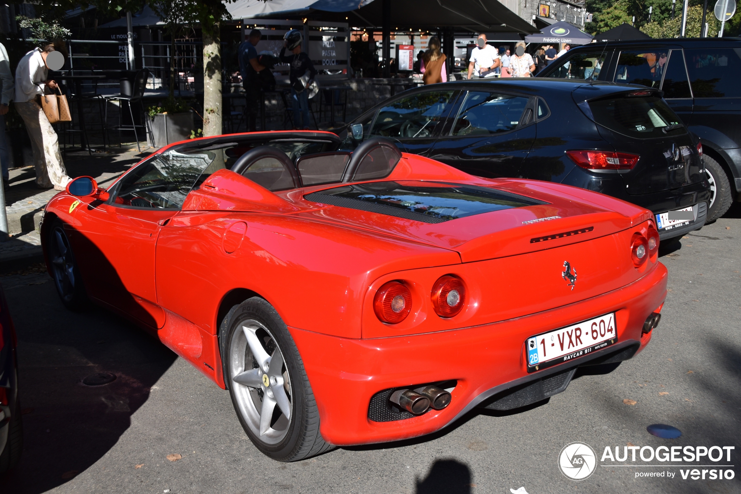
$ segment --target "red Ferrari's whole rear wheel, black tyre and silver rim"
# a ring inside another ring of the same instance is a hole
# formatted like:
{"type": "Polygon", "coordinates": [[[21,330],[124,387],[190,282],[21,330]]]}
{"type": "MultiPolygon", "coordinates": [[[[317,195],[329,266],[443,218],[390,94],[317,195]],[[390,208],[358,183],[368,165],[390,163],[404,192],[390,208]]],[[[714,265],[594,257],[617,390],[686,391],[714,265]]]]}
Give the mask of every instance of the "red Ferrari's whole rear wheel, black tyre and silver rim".
{"type": "Polygon", "coordinates": [[[319,412],[288,327],[262,298],[230,310],[220,331],[224,375],[242,427],[278,461],[332,448],[319,435],[319,412]]]}

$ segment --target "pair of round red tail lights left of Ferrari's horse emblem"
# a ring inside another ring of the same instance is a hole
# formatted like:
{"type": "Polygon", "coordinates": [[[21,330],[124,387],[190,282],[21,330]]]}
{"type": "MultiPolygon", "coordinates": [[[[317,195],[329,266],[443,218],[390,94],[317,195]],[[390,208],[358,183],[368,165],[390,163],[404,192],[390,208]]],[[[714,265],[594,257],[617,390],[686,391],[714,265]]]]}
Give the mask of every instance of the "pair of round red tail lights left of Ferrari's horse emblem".
{"type": "MultiPolygon", "coordinates": [[[[445,275],[435,281],[431,293],[432,305],[440,317],[453,317],[465,305],[465,287],[455,276],[445,275]]],[[[373,310],[383,322],[397,324],[412,310],[412,293],[401,281],[383,284],[373,297],[373,310]]]]}

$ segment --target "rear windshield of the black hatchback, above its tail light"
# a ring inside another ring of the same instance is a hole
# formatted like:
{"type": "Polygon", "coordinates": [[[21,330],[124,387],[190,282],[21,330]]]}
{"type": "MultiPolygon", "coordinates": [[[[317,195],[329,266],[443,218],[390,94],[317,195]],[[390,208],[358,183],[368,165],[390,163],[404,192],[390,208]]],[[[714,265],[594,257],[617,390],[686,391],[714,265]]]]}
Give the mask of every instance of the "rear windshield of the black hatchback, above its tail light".
{"type": "Polygon", "coordinates": [[[687,132],[671,108],[654,93],[646,96],[611,96],[589,101],[594,121],[625,136],[653,138],[687,132]]]}

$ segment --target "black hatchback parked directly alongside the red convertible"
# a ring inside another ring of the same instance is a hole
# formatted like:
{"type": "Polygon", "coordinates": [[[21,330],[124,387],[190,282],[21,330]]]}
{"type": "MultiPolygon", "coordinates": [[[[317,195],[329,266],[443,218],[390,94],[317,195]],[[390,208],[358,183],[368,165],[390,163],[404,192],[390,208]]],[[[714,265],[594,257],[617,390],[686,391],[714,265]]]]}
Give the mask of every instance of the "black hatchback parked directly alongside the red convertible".
{"type": "Polygon", "coordinates": [[[477,176],[556,181],[654,212],[660,238],[705,224],[702,147],[659,90],[501,79],[405,91],[348,125],[343,147],[384,136],[477,176]]]}

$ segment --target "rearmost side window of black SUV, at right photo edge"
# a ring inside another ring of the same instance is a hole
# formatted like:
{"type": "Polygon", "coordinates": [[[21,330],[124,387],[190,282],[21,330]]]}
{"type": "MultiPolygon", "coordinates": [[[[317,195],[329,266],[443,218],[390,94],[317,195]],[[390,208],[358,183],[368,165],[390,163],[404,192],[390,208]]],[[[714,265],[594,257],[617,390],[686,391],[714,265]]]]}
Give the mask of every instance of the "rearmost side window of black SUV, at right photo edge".
{"type": "Polygon", "coordinates": [[[685,50],[695,98],[741,96],[741,48],[685,50]]]}

